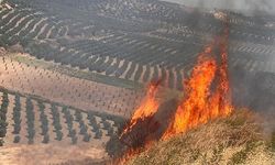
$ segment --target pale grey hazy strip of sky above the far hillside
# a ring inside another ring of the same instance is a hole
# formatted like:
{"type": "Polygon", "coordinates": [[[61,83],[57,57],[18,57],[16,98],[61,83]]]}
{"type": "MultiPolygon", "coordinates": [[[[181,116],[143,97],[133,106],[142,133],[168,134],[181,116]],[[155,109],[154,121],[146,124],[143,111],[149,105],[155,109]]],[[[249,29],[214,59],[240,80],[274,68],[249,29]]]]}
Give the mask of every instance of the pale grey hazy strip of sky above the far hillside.
{"type": "Polygon", "coordinates": [[[187,7],[226,9],[246,14],[275,14],[275,0],[165,0],[187,7]]]}

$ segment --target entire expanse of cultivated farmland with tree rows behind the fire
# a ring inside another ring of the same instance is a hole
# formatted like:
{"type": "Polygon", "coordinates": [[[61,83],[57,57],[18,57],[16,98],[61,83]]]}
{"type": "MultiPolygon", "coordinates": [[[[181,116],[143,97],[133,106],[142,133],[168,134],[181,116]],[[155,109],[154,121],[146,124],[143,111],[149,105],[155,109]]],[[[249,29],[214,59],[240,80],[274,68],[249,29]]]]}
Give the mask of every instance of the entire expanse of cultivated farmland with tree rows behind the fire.
{"type": "Polygon", "coordinates": [[[161,79],[168,97],[183,91],[197,55],[223,31],[220,13],[229,24],[233,101],[263,108],[268,101],[258,101],[260,94],[275,94],[274,16],[158,0],[4,0],[0,151],[8,154],[0,162],[110,158],[107,143],[140,106],[151,80],[161,79]]]}

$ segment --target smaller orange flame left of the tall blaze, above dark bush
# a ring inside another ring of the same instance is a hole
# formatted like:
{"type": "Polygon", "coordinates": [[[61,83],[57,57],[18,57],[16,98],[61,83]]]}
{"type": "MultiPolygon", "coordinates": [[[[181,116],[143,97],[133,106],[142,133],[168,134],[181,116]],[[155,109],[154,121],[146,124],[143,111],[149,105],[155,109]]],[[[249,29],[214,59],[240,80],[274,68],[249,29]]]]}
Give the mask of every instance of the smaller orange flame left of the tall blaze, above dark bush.
{"type": "Polygon", "coordinates": [[[156,113],[160,107],[160,102],[156,100],[156,94],[157,94],[160,84],[161,84],[161,80],[157,80],[157,81],[152,81],[148,85],[147,92],[146,92],[144,100],[142,101],[141,106],[134,111],[130,120],[130,123],[123,130],[121,136],[130,132],[132,128],[138,123],[138,121],[143,121],[146,118],[152,117],[156,113]]]}

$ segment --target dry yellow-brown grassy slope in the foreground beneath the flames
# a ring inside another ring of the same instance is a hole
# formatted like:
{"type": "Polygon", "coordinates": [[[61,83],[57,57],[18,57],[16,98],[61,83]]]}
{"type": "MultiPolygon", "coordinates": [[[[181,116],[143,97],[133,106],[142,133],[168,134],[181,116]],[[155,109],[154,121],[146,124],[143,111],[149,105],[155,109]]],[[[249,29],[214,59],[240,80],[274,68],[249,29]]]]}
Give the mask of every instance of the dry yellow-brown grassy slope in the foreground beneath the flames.
{"type": "Polygon", "coordinates": [[[275,164],[275,136],[264,138],[258,121],[251,112],[238,111],[158,142],[129,164],[275,164]]]}

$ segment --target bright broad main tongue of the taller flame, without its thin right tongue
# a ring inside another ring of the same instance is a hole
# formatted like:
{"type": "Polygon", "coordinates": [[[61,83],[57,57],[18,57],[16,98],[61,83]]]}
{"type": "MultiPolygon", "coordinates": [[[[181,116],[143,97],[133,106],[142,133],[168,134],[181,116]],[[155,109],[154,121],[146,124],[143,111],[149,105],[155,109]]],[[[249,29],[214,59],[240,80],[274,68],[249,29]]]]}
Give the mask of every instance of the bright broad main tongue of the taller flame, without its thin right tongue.
{"type": "Polygon", "coordinates": [[[212,46],[205,48],[199,55],[198,64],[195,66],[191,78],[186,82],[187,99],[176,110],[174,121],[168,125],[163,138],[185,132],[187,129],[205,123],[209,119],[208,97],[210,86],[215,79],[217,63],[211,56],[212,46]]]}

